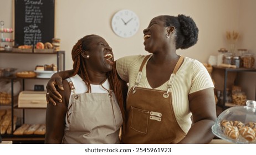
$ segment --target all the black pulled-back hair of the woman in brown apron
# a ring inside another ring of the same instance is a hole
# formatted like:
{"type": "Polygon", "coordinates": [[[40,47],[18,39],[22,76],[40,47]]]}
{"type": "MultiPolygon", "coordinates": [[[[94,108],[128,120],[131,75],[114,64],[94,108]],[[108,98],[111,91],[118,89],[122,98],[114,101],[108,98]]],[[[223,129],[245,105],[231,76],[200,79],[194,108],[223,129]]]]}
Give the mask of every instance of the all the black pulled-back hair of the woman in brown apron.
{"type": "Polygon", "coordinates": [[[173,26],[176,29],[176,49],[187,49],[197,43],[198,28],[194,20],[183,14],[175,16],[163,16],[165,26],[173,26]]]}

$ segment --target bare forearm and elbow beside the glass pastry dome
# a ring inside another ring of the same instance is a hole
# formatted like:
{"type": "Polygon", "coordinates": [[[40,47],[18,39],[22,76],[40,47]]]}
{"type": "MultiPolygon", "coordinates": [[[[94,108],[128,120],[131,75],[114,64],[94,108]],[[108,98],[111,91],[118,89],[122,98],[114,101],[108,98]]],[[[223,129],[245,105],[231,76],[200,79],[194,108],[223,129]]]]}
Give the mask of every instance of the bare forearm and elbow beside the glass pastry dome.
{"type": "Polygon", "coordinates": [[[180,143],[209,143],[214,135],[212,126],[216,121],[216,104],[213,88],[188,95],[193,125],[180,143]]]}

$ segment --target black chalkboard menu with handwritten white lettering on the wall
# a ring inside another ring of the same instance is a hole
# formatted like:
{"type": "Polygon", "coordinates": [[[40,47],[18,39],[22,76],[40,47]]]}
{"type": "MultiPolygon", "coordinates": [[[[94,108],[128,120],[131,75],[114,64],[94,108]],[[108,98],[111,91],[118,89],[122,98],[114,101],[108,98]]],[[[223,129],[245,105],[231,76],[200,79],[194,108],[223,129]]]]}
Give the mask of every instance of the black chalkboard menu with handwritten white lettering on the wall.
{"type": "Polygon", "coordinates": [[[15,0],[14,36],[16,45],[52,42],[54,0],[15,0]]]}

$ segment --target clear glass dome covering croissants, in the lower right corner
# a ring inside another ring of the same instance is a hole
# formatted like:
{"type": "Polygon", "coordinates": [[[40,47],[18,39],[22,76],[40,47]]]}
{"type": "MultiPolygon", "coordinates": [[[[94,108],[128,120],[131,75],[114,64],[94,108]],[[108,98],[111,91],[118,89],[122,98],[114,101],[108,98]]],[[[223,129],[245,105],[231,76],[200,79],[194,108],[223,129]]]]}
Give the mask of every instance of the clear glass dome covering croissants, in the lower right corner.
{"type": "Polygon", "coordinates": [[[247,100],[246,106],[224,110],[212,126],[219,138],[232,143],[256,143],[256,101],[247,100]]]}

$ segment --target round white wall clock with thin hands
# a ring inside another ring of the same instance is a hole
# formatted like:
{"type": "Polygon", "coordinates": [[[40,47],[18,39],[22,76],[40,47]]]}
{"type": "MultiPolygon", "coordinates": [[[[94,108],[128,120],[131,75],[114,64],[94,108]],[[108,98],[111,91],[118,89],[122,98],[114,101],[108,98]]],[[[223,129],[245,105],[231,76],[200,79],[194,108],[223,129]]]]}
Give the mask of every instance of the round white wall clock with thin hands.
{"type": "Polygon", "coordinates": [[[128,38],[137,33],[140,21],[133,11],[123,9],[112,17],[111,26],[116,35],[128,38]]]}

